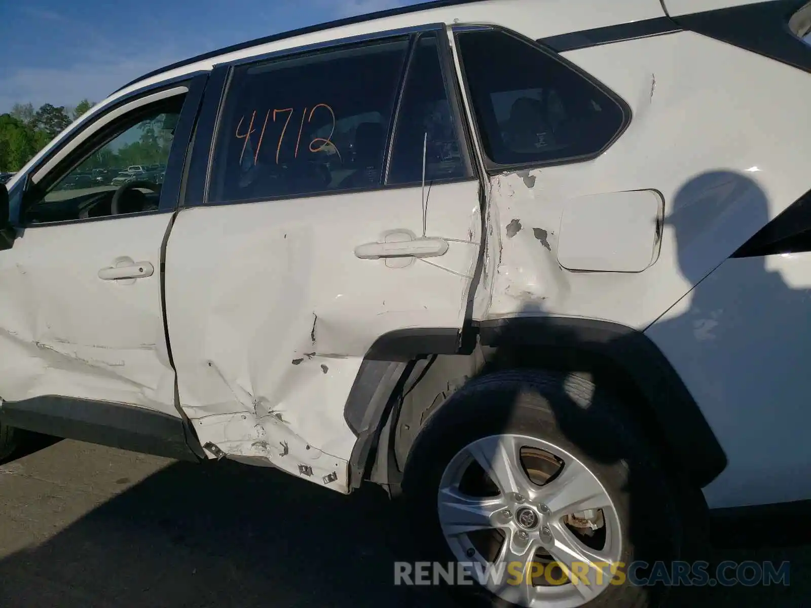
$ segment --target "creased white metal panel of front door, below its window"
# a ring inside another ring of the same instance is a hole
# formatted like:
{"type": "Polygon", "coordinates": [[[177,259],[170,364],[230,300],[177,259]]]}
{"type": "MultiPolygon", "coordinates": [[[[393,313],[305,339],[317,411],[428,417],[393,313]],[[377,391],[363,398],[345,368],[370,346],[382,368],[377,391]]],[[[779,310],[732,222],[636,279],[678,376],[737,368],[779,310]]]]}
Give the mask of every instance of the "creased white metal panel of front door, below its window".
{"type": "Polygon", "coordinates": [[[169,213],[25,229],[0,252],[0,396],[111,401],[179,417],[161,282],[101,280],[131,262],[161,265],[169,213]]]}

